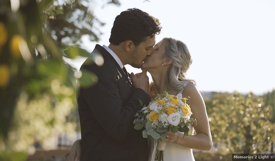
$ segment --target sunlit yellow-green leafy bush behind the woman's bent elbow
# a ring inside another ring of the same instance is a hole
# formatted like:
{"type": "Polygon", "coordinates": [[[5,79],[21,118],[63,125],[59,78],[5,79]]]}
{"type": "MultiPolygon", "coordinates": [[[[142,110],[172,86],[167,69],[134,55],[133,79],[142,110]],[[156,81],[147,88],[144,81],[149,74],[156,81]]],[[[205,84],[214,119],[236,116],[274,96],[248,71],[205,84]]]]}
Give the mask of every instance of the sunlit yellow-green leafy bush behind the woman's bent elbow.
{"type": "Polygon", "coordinates": [[[215,151],[265,153],[275,141],[275,125],[270,121],[272,107],[262,97],[238,93],[219,93],[206,101],[215,151]]]}

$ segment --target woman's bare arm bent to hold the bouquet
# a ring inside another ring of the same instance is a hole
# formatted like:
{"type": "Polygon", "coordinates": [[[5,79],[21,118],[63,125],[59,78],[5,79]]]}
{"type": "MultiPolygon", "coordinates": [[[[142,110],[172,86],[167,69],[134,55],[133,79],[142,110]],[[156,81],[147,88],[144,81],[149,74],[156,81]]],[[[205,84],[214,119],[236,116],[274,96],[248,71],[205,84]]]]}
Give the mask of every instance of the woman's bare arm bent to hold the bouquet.
{"type": "Polygon", "coordinates": [[[189,83],[183,90],[183,97],[190,96],[187,101],[192,111],[192,118],[197,119],[197,126],[194,126],[196,135],[185,136],[182,133],[172,133],[169,131],[169,136],[166,142],[176,143],[187,148],[197,150],[210,150],[212,148],[212,136],[209,127],[206,107],[203,98],[193,83],[189,83]]]}

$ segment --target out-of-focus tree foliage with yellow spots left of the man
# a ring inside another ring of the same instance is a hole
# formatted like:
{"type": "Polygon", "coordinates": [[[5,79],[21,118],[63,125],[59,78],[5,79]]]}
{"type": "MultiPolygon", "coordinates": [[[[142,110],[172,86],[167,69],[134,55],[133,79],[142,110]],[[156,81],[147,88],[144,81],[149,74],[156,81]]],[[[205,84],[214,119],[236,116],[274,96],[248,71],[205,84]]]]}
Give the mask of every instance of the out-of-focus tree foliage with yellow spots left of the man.
{"type": "Polygon", "coordinates": [[[54,132],[75,131],[76,80],[90,86],[97,77],[75,71],[64,57],[103,63],[79,47],[83,35],[98,41],[104,25],[88,2],[0,1],[0,160],[23,160],[14,152],[33,153],[35,142],[51,148],[54,132]]]}

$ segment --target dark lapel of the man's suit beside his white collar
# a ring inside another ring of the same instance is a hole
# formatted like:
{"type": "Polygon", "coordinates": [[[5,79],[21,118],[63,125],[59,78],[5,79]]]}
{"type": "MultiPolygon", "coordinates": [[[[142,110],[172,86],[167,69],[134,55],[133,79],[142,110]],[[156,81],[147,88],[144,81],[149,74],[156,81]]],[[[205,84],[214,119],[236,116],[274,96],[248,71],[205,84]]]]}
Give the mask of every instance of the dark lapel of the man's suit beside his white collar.
{"type": "Polygon", "coordinates": [[[129,87],[134,91],[135,88],[133,87],[132,83],[129,81],[128,76],[126,76],[126,74],[121,69],[119,64],[116,62],[114,57],[107,50],[105,50],[104,47],[100,46],[99,44],[96,44],[95,49],[97,49],[107,59],[107,61],[109,61],[116,68],[119,75],[122,76],[122,78],[126,81],[129,87]]]}

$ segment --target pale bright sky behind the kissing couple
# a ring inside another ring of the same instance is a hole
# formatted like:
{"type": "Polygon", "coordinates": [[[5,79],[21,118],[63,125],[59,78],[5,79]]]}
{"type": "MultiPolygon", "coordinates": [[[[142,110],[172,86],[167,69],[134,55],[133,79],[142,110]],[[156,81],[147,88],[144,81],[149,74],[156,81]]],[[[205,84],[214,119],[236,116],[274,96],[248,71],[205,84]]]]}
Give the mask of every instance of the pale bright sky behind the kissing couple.
{"type": "MultiPolygon", "coordinates": [[[[114,19],[128,8],[139,8],[160,20],[156,37],[183,41],[193,64],[187,77],[200,91],[253,92],[275,89],[275,1],[273,0],[120,0],[121,5],[91,1],[94,15],[106,23],[99,42],[83,37],[82,47],[92,52],[95,44],[109,45],[114,19]],[[104,6],[104,7],[102,7],[104,6]],[[273,73],[273,74],[272,74],[273,73]]],[[[80,68],[85,59],[70,62],[80,68]]],[[[129,73],[140,69],[126,65],[129,73]]],[[[152,77],[147,72],[149,80],[152,77]]]]}

